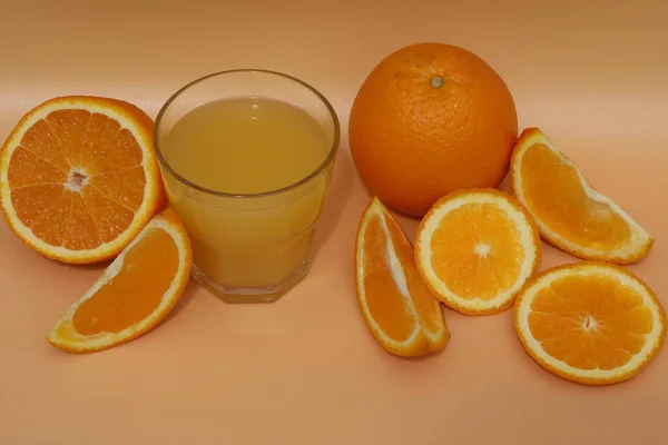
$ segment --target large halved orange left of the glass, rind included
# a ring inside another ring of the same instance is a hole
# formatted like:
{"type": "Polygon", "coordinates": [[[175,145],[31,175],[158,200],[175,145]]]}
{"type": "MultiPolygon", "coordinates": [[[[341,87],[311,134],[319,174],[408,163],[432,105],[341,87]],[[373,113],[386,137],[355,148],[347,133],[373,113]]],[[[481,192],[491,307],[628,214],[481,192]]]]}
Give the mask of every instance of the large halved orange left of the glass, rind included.
{"type": "Polygon", "coordinates": [[[153,120],[107,98],[39,105],[2,146],[0,199],[13,233],[48,258],[116,256],[165,204],[153,120]]]}

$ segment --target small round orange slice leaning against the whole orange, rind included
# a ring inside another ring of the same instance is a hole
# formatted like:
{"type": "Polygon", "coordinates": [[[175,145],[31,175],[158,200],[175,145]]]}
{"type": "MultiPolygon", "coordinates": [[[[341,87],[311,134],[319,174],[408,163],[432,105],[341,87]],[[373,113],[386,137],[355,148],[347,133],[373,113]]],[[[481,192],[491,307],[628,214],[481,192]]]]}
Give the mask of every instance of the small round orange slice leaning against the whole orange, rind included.
{"type": "Polygon", "coordinates": [[[495,189],[454,191],[420,224],[415,263],[426,286],[451,308],[497,314],[512,306],[538,269],[540,238],[514,198],[495,189]]]}

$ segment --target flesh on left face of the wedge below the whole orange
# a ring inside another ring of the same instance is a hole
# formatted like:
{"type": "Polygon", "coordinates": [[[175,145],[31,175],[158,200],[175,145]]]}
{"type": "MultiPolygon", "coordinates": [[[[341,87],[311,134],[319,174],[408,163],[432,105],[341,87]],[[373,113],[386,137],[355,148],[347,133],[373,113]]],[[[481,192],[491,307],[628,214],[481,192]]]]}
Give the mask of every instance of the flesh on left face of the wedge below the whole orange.
{"type": "MultiPolygon", "coordinates": [[[[385,219],[386,220],[386,219],[385,219]]],[[[415,329],[416,320],[409,313],[407,296],[403,296],[390,266],[387,233],[381,216],[374,214],[364,233],[364,291],[371,316],[385,335],[393,340],[406,340],[415,329]]],[[[405,264],[397,251],[400,261],[405,264]]]]}

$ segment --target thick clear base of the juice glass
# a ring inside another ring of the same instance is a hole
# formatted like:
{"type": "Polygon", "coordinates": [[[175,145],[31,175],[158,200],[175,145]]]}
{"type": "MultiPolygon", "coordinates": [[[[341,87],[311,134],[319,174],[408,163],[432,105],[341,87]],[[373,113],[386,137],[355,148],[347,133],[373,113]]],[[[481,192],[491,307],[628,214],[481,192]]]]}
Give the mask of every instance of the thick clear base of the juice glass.
{"type": "Polygon", "coordinates": [[[209,278],[195,265],[193,265],[190,275],[195,281],[225,303],[274,303],[306,277],[310,264],[308,259],[305,260],[283,281],[266,287],[223,286],[209,278]]]}

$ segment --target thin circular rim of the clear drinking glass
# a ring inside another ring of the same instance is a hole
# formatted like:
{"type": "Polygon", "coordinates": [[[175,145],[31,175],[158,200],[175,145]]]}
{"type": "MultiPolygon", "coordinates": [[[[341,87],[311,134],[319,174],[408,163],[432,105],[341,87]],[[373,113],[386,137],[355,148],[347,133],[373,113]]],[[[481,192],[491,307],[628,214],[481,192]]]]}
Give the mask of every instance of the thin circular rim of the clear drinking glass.
{"type": "Polygon", "coordinates": [[[338,122],[338,117],[336,116],[336,111],[334,110],[334,107],[332,107],[332,103],[330,103],[330,101],[323,96],[323,93],[321,93],[318,90],[316,90],[314,87],[306,83],[305,81],[297,79],[296,77],[293,77],[293,76],[289,76],[289,75],[283,73],[283,72],[278,72],[278,71],[273,71],[273,70],[267,70],[267,69],[262,69],[262,68],[238,68],[238,69],[216,71],[216,72],[212,72],[209,75],[203,76],[200,78],[197,78],[197,79],[186,83],[185,86],[179,88],[176,92],[174,92],[167,99],[167,101],[160,107],[160,110],[158,111],[158,116],[156,117],[156,121],[155,121],[155,126],[154,126],[153,137],[154,137],[154,148],[156,151],[156,156],[158,158],[158,162],[165,170],[167,170],[167,172],[169,172],[169,175],[171,175],[174,178],[176,178],[179,182],[185,184],[188,187],[191,187],[198,191],[202,191],[204,194],[212,195],[212,196],[218,196],[218,197],[224,197],[224,198],[263,198],[263,197],[275,196],[275,195],[279,195],[279,194],[296,189],[296,188],[310,182],[312,179],[314,179],[315,177],[321,175],[323,171],[325,171],[325,169],[330,166],[330,164],[332,164],[332,161],[336,157],[336,152],[338,151],[338,144],[340,144],[340,139],[341,139],[341,125],[338,122]],[[312,93],[314,93],[315,97],[317,97],[325,105],[325,108],[327,109],[327,111],[330,112],[330,117],[332,118],[332,123],[334,125],[334,140],[332,141],[332,146],[330,147],[327,157],[323,160],[323,162],[315,170],[313,170],[311,174],[308,174],[304,178],[299,179],[298,181],[289,184],[285,187],[277,188],[277,189],[259,191],[259,192],[255,192],[255,194],[230,194],[230,192],[226,192],[226,191],[212,190],[209,188],[199,186],[199,185],[184,178],[183,176],[177,174],[174,170],[174,168],[171,168],[169,162],[167,162],[167,160],[163,156],[163,151],[160,150],[160,144],[159,144],[159,138],[158,138],[158,130],[160,128],[160,123],[163,121],[163,117],[164,117],[165,112],[178,97],[180,97],[185,91],[187,91],[195,85],[203,82],[205,80],[208,80],[210,78],[214,78],[214,77],[218,77],[218,76],[223,76],[223,75],[230,75],[230,73],[262,73],[262,75],[271,75],[271,76],[282,77],[284,79],[291,80],[291,81],[296,82],[296,83],[301,85],[302,87],[306,88],[312,93]]]}

